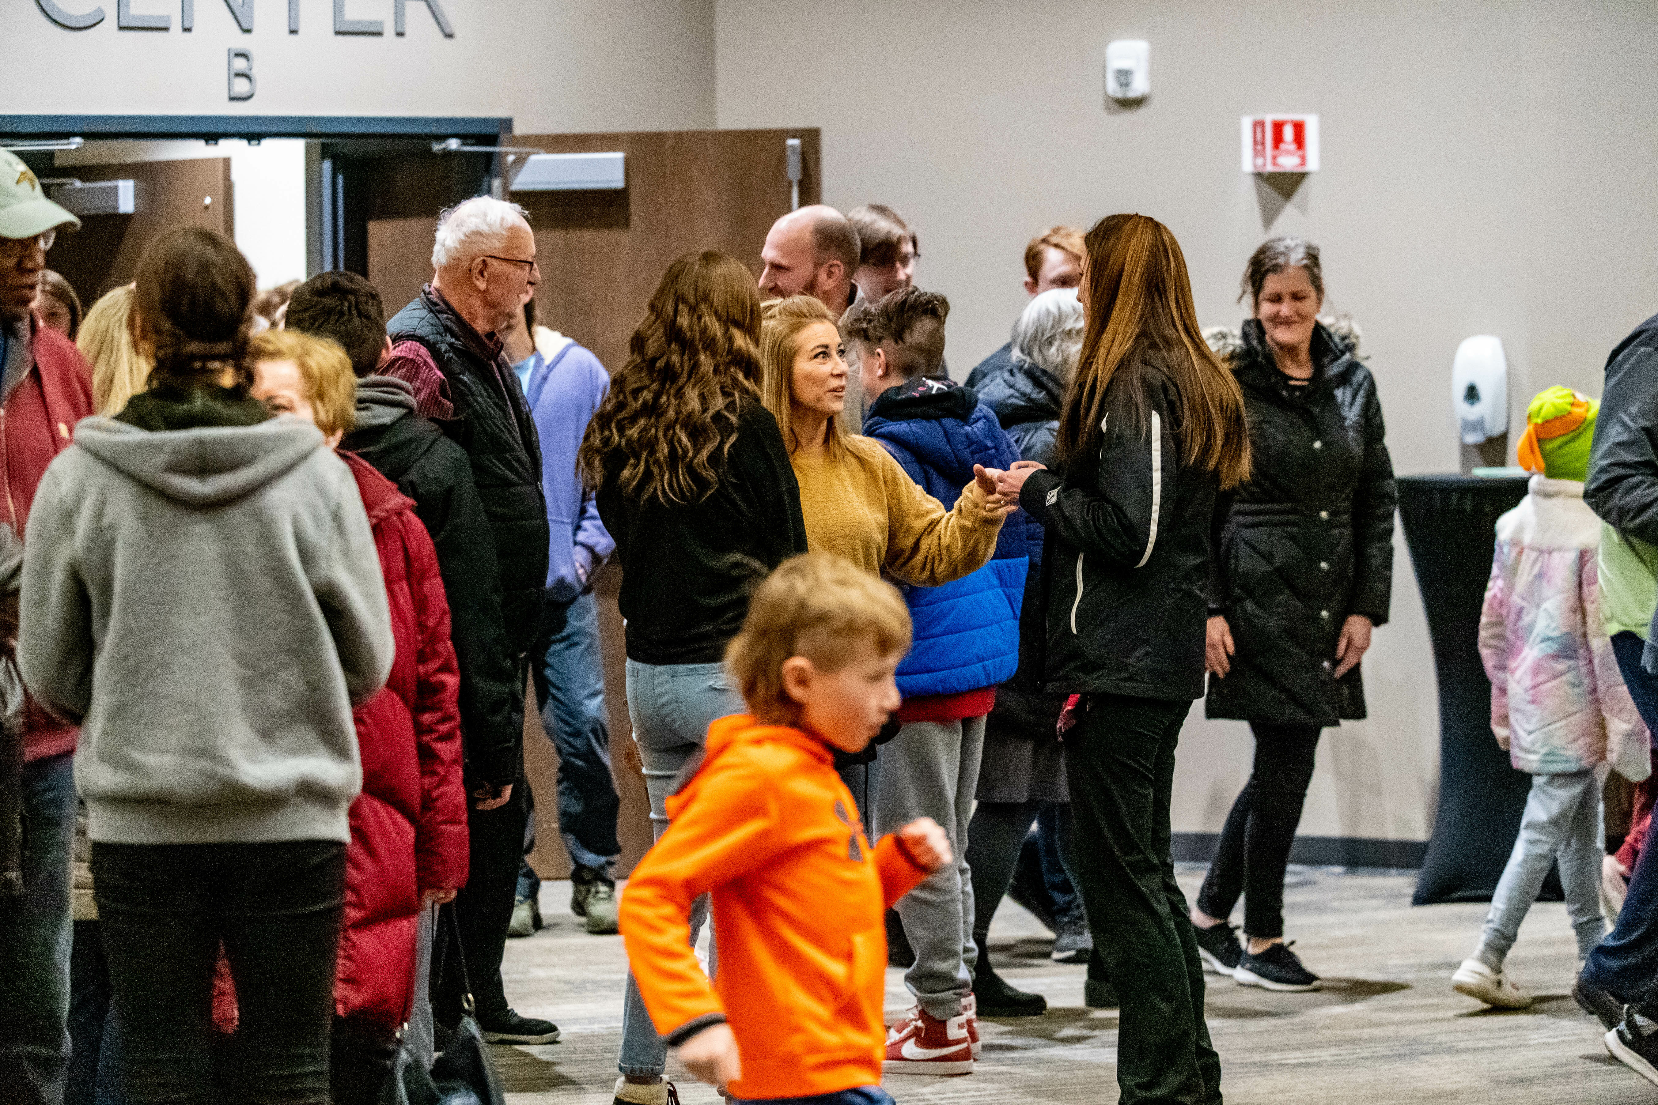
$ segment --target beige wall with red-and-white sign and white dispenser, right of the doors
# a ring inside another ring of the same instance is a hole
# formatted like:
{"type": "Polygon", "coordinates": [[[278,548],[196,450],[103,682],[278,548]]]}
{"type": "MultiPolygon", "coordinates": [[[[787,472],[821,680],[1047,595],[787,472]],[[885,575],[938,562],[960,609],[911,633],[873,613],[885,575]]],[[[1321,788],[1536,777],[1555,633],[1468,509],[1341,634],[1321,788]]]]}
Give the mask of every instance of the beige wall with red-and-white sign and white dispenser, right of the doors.
{"type": "MultiPolygon", "coordinates": [[[[822,128],[824,197],[920,229],[952,300],[950,364],[1006,340],[1025,240],[1114,210],[1169,224],[1205,325],[1235,323],[1268,234],[1325,249],[1330,306],[1365,330],[1401,474],[1457,467],[1457,341],[1504,340],[1514,408],[1598,394],[1607,350],[1658,310],[1658,7],[1124,5],[718,0],[718,124],[822,128]],[[804,45],[844,35],[827,63],[804,45]],[[1106,106],[1113,38],[1151,40],[1151,99],[1106,106]],[[1318,113],[1323,171],[1285,204],[1239,171],[1239,116],[1318,113]]],[[[1517,434],[1515,434],[1517,436],[1517,434]]],[[[1409,557],[1366,661],[1371,717],[1326,734],[1302,830],[1426,838],[1437,702],[1409,557]]],[[[1240,722],[1187,727],[1177,830],[1217,830],[1247,777],[1240,722]]]]}

